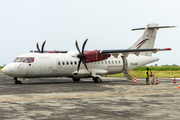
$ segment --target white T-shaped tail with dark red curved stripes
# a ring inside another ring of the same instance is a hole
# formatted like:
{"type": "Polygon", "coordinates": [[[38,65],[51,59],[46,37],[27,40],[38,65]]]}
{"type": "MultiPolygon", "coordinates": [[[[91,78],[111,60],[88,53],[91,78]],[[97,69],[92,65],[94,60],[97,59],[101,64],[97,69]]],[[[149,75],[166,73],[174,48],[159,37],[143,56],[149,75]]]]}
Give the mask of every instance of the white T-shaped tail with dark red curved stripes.
{"type": "MultiPolygon", "coordinates": [[[[135,28],[135,30],[144,30],[143,35],[129,49],[150,49],[154,48],[157,30],[160,28],[173,28],[176,26],[158,26],[157,23],[150,23],[145,28],[135,28]]],[[[152,56],[152,52],[141,52],[140,55],[152,56]]]]}

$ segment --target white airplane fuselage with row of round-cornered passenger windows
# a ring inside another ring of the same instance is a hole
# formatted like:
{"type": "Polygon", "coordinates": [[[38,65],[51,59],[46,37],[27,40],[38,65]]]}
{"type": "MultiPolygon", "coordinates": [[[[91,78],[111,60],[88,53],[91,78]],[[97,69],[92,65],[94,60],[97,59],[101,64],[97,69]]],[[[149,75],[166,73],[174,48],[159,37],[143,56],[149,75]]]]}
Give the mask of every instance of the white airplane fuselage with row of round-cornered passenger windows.
{"type": "MultiPolygon", "coordinates": [[[[129,54],[127,63],[122,56],[110,57],[103,61],[87,63],[88,72],[81,65],[79,72],[77,66],[79,59],[70,53],[30,53],[18,56],[19,58],[34,58],[33,62],[12,62],[3,68],[3,73],[16,78],[38,78],[38,77],[72,77],[85,78],[90,75],[106,75],[121,73],[125,69],[132,70],[137,67],[159,60],[152,56],[136,56],[129,54]],[[126,65],[125,65],[126,64],[126,65]],[[78,74],[75,74],[78,73],[78,74]]],[[[81,63],[82,64],[82,63],[81,63]]]]}

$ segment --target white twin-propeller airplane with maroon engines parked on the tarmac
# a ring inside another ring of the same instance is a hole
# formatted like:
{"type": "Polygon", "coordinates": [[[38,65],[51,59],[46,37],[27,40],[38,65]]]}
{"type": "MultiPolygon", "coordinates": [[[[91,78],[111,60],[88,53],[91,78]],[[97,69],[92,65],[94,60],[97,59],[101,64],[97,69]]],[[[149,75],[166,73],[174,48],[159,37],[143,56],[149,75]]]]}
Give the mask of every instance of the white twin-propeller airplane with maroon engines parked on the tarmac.
{"type": "Polygon", "coordinates": [[[74,51],[44,51],[42,49],[31,51],[29,54],[22,54],[10,64],[6,65],[2,72],[13,77],[15,83],[21,84],[23,79],[43,77],[70,77],[74,82],[80,78],[92,78],[95,83],[102,81],[102,75],[123,73],[131,80],[128,70],[159,60],[153,57],[152,53],[171,50],[171,48],[153,48],[157,30],[160,28],[172,28],[175,26],[158,26],[157,23],[150,23],[145,28],[132,30],[144,30],[143,35],[128,49],[115,50],[91,50],[87,51],[85,40],[82,51],[78,47],[74,51]],[[83,63],[84,65],[81,65],[83,63]]]}

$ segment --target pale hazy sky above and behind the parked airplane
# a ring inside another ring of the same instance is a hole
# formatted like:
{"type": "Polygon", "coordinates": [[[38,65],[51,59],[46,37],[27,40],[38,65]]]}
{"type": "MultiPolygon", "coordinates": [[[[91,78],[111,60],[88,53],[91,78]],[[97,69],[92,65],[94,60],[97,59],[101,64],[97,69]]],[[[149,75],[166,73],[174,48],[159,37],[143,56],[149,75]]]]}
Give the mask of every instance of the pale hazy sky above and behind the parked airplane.
{"type": "Polygon", "coordinates": [[[150,65],[180,65],[180,0],[0,0],[0,65],[37,50],[127,49],[149,23],[177,26],[158,30],[155,48],[172,48],[153,56],[150,65]]]}

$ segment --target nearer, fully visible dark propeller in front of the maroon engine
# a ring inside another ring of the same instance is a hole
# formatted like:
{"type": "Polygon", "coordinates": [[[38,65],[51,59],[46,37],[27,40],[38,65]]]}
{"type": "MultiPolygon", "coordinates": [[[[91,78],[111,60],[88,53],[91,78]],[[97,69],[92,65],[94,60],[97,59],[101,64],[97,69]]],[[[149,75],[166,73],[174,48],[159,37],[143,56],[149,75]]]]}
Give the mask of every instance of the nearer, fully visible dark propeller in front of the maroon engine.
{"type": "Polygon", "coordinates": [[[86,42],[88,41],[88,39],[86,39],[84,41],[84,44],[82,46],[82,52],[80,51],[79,49],[79,46],[78,46],[78,42],[76,40],[76,48],[77,50],[79,51],[79,54],[77,55],[77,57],[80,59],[79,62],[78,62],[78,68],[77,68],[77,71],[79,72],[79,68],[80,68],[80,65],[81,65],[81,62],[84,64],[85,68],[87,69],[87,71],[89,72],[88,68],[87,68],[87,65],[86,65],[86,59],[85,59],[85,54],[84,54],[84,48],[85,48],[85,45],[86,45],[86,42]]]}

